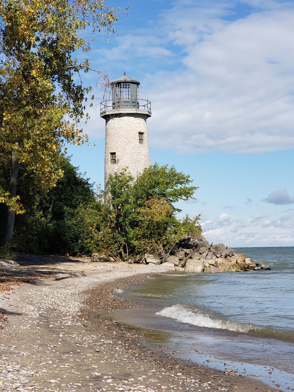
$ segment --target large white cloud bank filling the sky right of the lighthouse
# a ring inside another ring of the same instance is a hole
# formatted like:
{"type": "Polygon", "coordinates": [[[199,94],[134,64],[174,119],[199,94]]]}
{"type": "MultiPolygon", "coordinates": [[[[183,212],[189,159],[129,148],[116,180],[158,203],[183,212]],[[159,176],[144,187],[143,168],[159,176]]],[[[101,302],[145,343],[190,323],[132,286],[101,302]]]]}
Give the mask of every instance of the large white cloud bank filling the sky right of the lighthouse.
{"type": "Polygon", "coordinates": [[[219,21],[183,43],[187,69],[155,75],[154,145],[164,137],[183,154],[293,147],[293,18],[291,10],[219,21]]]}

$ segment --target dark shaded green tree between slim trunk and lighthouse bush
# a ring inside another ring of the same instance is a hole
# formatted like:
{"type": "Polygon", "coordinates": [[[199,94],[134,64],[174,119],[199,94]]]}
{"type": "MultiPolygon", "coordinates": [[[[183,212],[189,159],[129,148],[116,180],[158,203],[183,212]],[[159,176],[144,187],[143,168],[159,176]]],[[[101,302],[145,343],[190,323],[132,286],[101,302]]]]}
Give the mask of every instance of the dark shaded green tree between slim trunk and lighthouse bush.
{"type": "Polygon", "coordinates": [[[26,213],[16,216],[13,249],[43,254],[86,253],[79,243],[84,227],[77,224],[76,215],[95,201],[93,184],[70,163],[70,158],[61,156],[59,168],[64,174],[56,186],[48,192],[39,190],[34,198],[28,194],[33,181],[28,176],[20,179],[18,190],[26,213]]]}

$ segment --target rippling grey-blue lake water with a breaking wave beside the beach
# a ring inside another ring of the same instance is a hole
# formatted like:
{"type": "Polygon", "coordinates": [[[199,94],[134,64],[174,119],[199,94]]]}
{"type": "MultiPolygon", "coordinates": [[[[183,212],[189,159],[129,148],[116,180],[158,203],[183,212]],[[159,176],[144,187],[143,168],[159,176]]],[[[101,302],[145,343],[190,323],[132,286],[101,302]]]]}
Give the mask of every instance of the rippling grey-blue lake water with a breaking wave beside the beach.
{"type": "Polygon", "coordinates": [[[145,307],[116,317],[182,358],[294,390],[294,247],[237,251],[271,270],[159,274],[123,293],[145,307]]]}

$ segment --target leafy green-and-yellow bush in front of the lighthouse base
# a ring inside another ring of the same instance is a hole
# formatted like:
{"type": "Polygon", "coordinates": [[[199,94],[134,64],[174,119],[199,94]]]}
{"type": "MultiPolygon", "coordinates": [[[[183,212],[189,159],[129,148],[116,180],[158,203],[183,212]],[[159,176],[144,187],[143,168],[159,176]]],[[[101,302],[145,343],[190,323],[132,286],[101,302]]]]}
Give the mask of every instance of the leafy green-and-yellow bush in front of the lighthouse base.
{"type": "Polygon", "coordinates": [[[180,220],[174,206],[178,200],[193,198],[198,187],[189,175],[175,167],[158,164],[146,168],[136,180],[123,170],[109,178],[104,218],[100,231],[107,229],[103,245],[106,252],[129,260],[152,252],[163,256],[186,237],[202,238],[200,215],[180,220]],[[107,243],[111,241],[111,245],[107,243]]]}

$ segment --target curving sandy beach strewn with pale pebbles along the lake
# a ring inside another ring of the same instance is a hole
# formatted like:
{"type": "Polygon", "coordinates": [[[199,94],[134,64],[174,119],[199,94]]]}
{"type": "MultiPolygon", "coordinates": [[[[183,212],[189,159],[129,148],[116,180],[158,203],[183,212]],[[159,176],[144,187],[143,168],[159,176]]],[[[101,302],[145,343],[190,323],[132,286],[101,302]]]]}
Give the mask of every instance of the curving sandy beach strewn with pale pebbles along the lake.
{"type": "Polygon", "coordinates": [[[143,335],[107,318],[113,310],[141,306],[116,296],[117,289],[171,270],[171,265],[74,258],[33,258],[22,264],[0,266],[5,277],[0,291],[0,390],[279,390],[147,347],[143,335]],[[17,280],[13,271],[29,281],[3,290],[17,280]]]}

